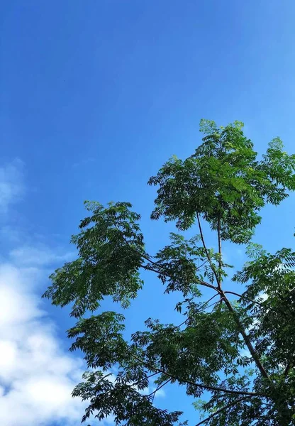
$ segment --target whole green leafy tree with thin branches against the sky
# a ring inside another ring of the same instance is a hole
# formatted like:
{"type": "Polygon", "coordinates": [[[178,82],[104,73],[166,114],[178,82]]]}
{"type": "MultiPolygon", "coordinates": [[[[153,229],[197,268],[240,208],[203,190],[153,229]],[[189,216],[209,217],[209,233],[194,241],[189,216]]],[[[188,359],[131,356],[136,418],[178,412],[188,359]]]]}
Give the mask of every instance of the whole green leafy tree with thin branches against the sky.
{"type": "Polygon", "coordinates": [[[44,296],[72,304],[71,350],[83,351],[89,368],[73,391],[89,403],[83,421],[113,414],[116,425],[187,425],[182,413],[153,405],[158,389],[177,383],[204,412],[198,425],[295,425],[295,253],[267,253],[252,242],[262,207],[295,189],[295,155],[275,138],[258,160],[238,121],[218,128],[201,120],[200,128],[195,153],[173,157],[149,180],[158,187],[151,218],[176,222],[169,245],[147,253],[140,215],[128,202],[87,202],[89,216],[72,237],[79,256],[50,277],[44,296]],[[204,222],[216,250],[206,244],[204,222]],[[232,278],[223,241],[247,244],[250,259],[232,278]],[[165,293],[182,295],[176,309],[184,322],[148,319],[126,339],[123,315],[95,311],[106,296],[128,308],[143,287],[142,270],[155,273],[165,293]],[[230,280],[242,293],[228,290],[230,280]],[[145,395],[150,380],[157,389],[145,395]]]}

